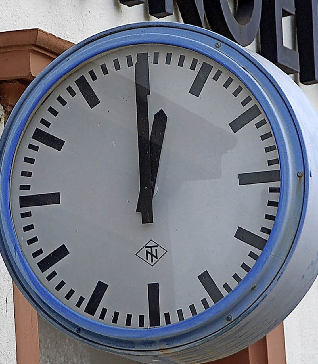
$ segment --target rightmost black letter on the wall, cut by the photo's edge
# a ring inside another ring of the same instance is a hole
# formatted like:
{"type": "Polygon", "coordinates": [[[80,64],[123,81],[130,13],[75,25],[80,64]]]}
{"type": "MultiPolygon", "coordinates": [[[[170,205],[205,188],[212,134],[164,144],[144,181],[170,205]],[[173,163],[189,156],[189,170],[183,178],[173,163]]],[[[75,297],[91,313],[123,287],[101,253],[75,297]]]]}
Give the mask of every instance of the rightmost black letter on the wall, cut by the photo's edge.
{"type": "Polygon", "coordinates": [[[318,1],[295,0],[301,83],[318,83],[318,1]]]}

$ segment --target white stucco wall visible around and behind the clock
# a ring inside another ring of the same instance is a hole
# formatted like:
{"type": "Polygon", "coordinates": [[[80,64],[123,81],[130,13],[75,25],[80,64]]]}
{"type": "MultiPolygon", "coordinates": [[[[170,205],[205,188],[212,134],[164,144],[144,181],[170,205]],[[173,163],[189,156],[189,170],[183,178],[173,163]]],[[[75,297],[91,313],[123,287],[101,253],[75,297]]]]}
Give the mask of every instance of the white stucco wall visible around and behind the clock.
{"type": "MultiPolygon", "coordinates": [[[[176,16],[164,21],[181,21],[176,16]]],[[[127,7],[119,0],[1,0],[0,31],[41,28],[74,43],[117,25],[156,20],[144,5],[127,7]]],[[[290,27],[289,24],[284,24],[290,27]]],[[[288,31],[285,32],[288,34],[288,31]]],[[[284,42],[292,43],[290,39],[284,42]]],[[[251,47],[253,48],[253,47],[251,47]]],[[[318,85],[302,86],[318,110],[318,85]]],[[[0,132],[1,132],[0,107],[0,132]]],[[[0,363],[15,363],[12,284],[0,259],[0,363]]],[[[318,363],[318,280],[285,321],[288,364],[318,363]]],[[[39,319],[41,363],[135,363],[80,344],[39,319]]]]}

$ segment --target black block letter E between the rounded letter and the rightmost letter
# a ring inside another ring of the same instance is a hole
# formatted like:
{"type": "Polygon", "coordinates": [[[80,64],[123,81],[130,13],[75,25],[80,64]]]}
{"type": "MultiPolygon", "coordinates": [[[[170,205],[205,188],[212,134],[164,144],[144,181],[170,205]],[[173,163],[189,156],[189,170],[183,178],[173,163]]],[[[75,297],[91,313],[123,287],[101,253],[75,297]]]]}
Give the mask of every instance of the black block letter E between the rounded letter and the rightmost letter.
{"type": "MultiPolygon", "coordinates": [[[[304,1],[301,2],[303,6],[304,1]]],[[[298,52],[284,47],[282,19],[283,16],[294,13],[294,0],[263,1],[260,22],[261,55],[289,74],[299,72],[298,52]]]]}

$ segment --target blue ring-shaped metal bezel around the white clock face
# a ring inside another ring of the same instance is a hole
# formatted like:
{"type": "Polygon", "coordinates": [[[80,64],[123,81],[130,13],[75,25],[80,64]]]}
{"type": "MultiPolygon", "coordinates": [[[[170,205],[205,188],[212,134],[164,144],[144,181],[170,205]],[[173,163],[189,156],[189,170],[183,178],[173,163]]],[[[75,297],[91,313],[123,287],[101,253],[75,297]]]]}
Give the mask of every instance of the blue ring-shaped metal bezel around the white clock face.
{"type": "Polygon", "coordinates": [[[139,23],[97,34],[54,60],[18,101],[0,141],[0,240],[8,270],[29,301],[51,323],[80,340],[116,353],[178,350],[220,335],[245,317],[262,299],[297,245],[307,204],[309,168],[293,109],[276,81],[242,47],[210,31],[178,23],[139,23]],[[216,46],[219,43],[221,47],[216,46]],[[52,87],[81,64],[99,54],[135,44],[160,43],[184,47],[219,62],[255,96],[272,126],[281,165],[281,197],[274,228],[255,265],[220,302],[188,320],[152,329],[126,329],[98,323],[66,307],[38,281],[17,241],[10,212],[10,176],[15,150],[37,106],[52,87]],[[248,71],[246,71],[248,70],[248,71]],[[284,125],[281,121],[284,120],[284,125]],[[301,192],[291,176],[304,171],[301,192]],[[298,190],[297,190],[298,188],[298,190]],[[275,257],[279,258],[275,258],[275,257]],[[257,283],[256,289],[253,287],[257,283]],[[226,317],[231,315],[232,322],[226,317]]]}

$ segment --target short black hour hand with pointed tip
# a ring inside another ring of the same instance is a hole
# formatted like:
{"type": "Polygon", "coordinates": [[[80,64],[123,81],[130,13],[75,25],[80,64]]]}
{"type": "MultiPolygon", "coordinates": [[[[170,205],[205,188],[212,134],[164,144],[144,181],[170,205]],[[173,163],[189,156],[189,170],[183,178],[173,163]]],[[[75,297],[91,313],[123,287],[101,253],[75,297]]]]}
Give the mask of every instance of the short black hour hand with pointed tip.
{"type": "MultiPolygon", "coordinates": [[[[167,120],[168,120],[168,117],[166,116],[165,112],[161,109],[154,115],[153,126],[151,128],[150,167],[151,167],[152,194],[154,194],[154,188],[155,188],[156,179],[157,179],[161,149],[162,149],[167,120]]],[[[139,193],[136,211],[140,211],[140,209],[141,209],[140,201],[141,201],[141,194],[139,193]]]]}

